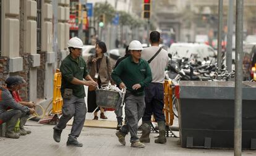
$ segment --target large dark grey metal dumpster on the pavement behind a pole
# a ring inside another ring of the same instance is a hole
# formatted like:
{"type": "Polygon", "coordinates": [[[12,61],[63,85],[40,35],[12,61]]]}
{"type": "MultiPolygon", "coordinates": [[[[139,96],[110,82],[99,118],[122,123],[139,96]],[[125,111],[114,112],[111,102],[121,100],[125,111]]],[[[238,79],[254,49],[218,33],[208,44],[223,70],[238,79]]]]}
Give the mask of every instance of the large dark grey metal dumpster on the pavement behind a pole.
{"type": "MultiPolygon", "coordinates": [[[[175,92],[182,147],[234,147],[234,82],[180,81],[175,92]]],[[[255,82],[242,86],[242,149],[256,149],[255,82]]]]}

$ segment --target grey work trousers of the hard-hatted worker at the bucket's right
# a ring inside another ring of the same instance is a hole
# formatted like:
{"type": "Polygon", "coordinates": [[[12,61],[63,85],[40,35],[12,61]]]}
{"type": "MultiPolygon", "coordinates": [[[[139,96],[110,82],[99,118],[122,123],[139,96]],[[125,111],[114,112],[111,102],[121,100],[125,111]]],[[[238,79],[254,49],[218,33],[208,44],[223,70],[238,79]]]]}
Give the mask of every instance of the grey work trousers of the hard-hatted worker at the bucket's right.
{"type": "Polygon", "coordinates": [[[119,131],[124,134],[130,132],[130,142],[137,142],[139,141],[137,136],[138,122],[142,118],[145,110],[145,96],[134,96],[131,92],[126,91],[124,102],[126,103],[124,110],[126,112],[127,123],[119,131]]]}

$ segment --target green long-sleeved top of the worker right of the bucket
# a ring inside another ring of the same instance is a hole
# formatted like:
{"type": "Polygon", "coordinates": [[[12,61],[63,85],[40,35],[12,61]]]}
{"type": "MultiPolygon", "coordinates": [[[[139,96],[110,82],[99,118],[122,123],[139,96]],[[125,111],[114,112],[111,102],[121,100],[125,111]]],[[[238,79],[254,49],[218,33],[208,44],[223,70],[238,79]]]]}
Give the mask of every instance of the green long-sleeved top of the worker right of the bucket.
{"type": "Polygon", "coordinates": [[[135,63],[132,56],[122,60],[111,74],[112,79],[116,84],[124,83],[128,91],[131,91],[135,96],[143,96],[144,88],[152,81],[152,75],[148,62],[139,59],[139,63],[135,63]],[[137,90],[132,89],[134,84],[140,84],[142,88],[137,90]]]}

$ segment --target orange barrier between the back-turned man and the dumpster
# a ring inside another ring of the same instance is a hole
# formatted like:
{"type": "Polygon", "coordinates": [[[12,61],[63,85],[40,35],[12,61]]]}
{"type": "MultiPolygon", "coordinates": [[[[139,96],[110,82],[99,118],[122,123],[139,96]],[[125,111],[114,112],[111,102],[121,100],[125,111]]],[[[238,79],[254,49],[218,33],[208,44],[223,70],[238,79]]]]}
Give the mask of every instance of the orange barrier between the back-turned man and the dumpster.
{"type": "Polygon", "coordinates": [[[164,80],[164,109],[166,125],[172,126],[174,120],[173,114],[173,90],[171,80],[164,80]]]}

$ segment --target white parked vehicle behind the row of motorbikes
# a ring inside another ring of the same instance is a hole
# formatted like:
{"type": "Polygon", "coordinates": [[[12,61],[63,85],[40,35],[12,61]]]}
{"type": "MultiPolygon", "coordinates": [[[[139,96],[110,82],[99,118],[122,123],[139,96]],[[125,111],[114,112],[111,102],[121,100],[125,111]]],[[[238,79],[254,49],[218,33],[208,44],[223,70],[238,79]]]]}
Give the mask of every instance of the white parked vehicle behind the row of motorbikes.
{"type": "Polygon", "coordinates": [[[197,59],[201,62],[207,58],[212,62],[216,60],[216,51],[207,44],[173,43],[168,53],[173,57],[197,59]]]}

